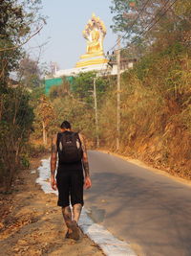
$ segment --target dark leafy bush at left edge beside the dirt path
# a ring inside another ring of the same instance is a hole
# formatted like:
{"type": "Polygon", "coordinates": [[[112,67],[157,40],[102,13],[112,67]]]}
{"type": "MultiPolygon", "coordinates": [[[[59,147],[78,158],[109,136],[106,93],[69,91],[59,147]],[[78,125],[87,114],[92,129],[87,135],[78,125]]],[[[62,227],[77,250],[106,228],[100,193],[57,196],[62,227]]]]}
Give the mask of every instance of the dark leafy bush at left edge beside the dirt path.
{"type": "Polygon", "coordinates": [[[33,111],[29,100],[29,93],[21,87],[0,94],[0,177],[7,189],[32,131],[33,111]]]}

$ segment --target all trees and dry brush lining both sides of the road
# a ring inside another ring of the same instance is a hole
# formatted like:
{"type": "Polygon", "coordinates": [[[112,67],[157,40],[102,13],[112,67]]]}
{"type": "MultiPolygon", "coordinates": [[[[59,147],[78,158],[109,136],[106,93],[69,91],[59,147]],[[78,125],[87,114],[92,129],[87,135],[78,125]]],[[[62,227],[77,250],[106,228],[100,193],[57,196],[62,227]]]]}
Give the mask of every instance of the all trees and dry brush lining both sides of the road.
{"type": "MultiPolygon", "coordinates": [[[[164,8],[164,2],[144,7],[146,1],[112,1],[113,30],[123,35],[121,58],[137,59],[121,75],[118,152],[191,179],[191,3],[168,1],[164,8]]],[[[45,95],[43,67],[22,47],[45,24],[40,1],[19,3],[1,3],[0,182],[7,190],[31,156],[49,149],[63,120],[86,136],[90,148],[96,148],[97,135],[100,148],[117,147],[117,77],[79,74],[45,95]]]]}

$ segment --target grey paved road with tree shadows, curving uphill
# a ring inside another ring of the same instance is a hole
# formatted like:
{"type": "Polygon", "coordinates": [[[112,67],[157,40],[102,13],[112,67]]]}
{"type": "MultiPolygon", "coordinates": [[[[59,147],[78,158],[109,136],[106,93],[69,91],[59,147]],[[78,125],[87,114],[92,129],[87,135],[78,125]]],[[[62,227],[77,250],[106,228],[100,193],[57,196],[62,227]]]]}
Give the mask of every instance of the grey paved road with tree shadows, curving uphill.
{"type": "Polygon", "coordinates": [[[191,256],[191,186],[108,153],[89,151],[92,218],[140,255],[191,256]]]}

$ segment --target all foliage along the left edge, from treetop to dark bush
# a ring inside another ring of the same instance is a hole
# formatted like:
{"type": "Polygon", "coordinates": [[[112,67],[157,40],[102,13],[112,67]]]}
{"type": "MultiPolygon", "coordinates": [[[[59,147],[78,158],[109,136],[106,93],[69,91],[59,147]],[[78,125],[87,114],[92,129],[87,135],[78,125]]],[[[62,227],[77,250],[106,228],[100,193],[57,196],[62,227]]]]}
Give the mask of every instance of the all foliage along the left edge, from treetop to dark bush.
{"type": "Polygon", "coordinates": [[[11,74],[16,74],[24,56],[22,45],[44,24],[39,7],[39,0],[0,1],[0,182],[7,189],[20,163],[28,165],[25,148],[32,131],[33,111],[29,91],[24,87],[34,81],[14,81],[11,74]]]}

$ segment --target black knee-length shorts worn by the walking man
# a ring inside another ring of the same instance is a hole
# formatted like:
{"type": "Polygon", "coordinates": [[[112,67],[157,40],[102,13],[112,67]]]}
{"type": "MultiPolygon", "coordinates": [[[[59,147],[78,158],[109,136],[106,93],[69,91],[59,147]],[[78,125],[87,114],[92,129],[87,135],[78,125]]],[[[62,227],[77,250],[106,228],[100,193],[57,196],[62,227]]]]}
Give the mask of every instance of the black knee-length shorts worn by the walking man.
{"type": "Polygon", "coordinates": [[[57,205],[66,207],[76,203],[84,204],[83,202],[83,184],[84,177],[82,170],[65,171],[60,170],[56,175],[58,201],[57,205]]]}

